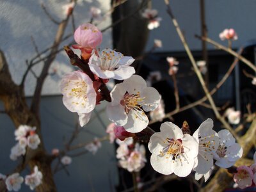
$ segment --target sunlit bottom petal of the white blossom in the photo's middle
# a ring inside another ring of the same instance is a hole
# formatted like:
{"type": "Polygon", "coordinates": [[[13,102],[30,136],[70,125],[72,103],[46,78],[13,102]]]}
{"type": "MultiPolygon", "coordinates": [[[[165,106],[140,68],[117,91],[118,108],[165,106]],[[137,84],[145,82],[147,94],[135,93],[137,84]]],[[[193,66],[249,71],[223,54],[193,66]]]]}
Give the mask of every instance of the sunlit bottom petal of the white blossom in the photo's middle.
{"type": "Polygon", "coordinates": [[[133,109],[127,114],[127,124],[124,129],[128,132],[141,132],[148,125],[148,117],[143,111],[134,111],[133,109]]]}

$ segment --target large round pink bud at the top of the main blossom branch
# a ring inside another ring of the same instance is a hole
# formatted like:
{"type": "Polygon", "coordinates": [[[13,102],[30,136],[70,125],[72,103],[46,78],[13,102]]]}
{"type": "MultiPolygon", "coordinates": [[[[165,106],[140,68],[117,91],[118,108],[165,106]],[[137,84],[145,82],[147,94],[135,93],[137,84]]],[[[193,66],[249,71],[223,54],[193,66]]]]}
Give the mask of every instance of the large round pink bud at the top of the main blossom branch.
{"type": "Polygon", "coordinates": [[[76,29],[74,39],[78,44],[73,46],[74,49],[95,49],[102,42],[102,33],[93,24],[83,24],[76,29]]]}

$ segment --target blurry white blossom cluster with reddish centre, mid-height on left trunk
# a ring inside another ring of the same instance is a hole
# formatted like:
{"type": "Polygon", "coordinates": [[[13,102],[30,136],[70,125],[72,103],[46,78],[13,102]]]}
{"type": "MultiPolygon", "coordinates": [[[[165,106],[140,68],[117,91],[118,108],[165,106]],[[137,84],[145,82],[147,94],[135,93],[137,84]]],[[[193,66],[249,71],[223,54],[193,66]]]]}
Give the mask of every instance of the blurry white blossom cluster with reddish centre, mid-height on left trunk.
{"type": "Polygon", "coordinates": [[[20,125],[18,129],[15,130],[15,140],[18,143],[12,147],[10,159],[13,161],[17,160],[19,156],[26,153],[26,147],[36,149],[40,144],[40,138],[35,132],[36,127],[30,127],[28,125],[20,125]]]}

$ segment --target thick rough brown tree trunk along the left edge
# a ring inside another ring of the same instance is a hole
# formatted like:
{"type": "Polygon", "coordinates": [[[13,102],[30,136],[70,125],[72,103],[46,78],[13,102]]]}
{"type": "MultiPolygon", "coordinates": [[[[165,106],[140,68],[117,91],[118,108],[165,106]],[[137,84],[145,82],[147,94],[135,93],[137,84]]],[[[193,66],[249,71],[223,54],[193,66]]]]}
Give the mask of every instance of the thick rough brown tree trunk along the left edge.
{"type": "MultiPolygon", "coordinates": [[[[26,165],[31,170],[35,165],[43,173],[42,184],[36,188],[38,192],[56,191],[53,175],[51,171],[51,157],[47,156],[44,148],[42,135],[40,134],[40,120],[35,113],[32,113],[24,96],[24,89],[12,81],[4,54],[0,51],[0,100],[3,101],[4,110],[13,121],[15,127],[19,125],[31,125],[36,127],[36,133],[40,137],[41,143],[36,150],[27,149],[25,161],[13,172],[21,172],[26,165]]],[[[4,182],[0,182],[0,190],[5,191],[4,182]]]]}

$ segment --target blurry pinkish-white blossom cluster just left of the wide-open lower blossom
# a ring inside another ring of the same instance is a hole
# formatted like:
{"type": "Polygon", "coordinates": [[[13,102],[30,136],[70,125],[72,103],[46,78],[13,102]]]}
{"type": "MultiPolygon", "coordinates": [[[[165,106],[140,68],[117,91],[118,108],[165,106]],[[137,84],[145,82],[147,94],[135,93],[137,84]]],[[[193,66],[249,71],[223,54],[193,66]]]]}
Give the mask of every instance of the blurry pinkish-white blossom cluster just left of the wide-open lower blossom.
{"type": "Polygon", "coordinates": [[[116,140],[119,147],[116,149],[116,158],[120,166],[129,172],[139,172],[145,166],[147,159],[144,145],[135,143],[132,138],[124,141],[116,140]]]}

